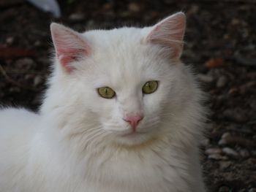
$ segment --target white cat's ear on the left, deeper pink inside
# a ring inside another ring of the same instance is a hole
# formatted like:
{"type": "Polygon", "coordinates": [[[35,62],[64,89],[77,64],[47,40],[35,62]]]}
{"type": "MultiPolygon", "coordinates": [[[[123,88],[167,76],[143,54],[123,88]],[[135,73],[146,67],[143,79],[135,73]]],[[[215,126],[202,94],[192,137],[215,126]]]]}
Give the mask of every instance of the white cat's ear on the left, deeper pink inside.
{"type": "Polygon", "coordinates": [[[56,57],[66,72],[72,72],[73,61],[91,53],[91,47],[78,32],[57,23],[50,24],[50,32],[56,57]]]}

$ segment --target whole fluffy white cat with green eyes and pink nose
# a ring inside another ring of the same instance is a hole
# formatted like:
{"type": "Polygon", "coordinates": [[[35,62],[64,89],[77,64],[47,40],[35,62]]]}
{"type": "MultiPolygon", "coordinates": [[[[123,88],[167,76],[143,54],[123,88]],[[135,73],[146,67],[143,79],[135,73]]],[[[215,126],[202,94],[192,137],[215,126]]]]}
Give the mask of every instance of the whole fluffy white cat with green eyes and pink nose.
{"type": "Polygon", "coordinates": [[[39,114],[0,111],[1,192],[203,192],[203,93],[180,61],[178,12],[79,34],[52,23],[39,114]]]}

